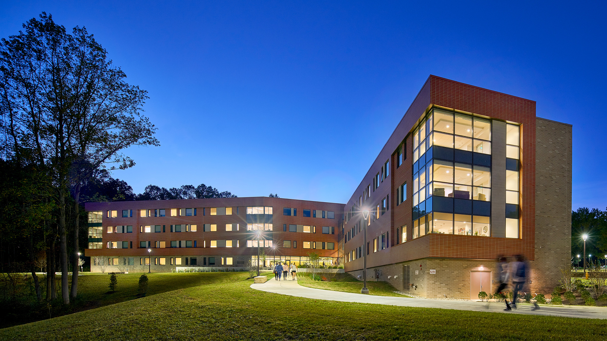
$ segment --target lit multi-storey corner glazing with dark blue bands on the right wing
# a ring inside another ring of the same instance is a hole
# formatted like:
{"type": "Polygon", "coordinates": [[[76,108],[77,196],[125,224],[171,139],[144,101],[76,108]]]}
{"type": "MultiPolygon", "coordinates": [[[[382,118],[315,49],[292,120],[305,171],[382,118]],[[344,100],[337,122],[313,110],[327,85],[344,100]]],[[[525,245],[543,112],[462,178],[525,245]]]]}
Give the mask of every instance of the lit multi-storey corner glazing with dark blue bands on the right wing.
{"type": "Polygon", "coordinates": [[[436,212],[432,205],[433,197],[491,201],[490,155],[491,121],[436,108],[422,118],[413,132],[413,238],[429,233],[490,237],[488,210],[463,215],[436,212]]]}

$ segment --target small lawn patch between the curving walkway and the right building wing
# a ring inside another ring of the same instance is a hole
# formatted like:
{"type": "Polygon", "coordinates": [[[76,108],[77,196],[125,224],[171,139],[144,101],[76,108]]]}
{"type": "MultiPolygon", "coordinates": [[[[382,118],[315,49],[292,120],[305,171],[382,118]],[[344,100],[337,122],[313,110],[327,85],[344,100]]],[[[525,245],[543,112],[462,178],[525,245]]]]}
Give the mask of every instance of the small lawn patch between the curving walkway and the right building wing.
{"type": "MultiPolygon", "coordinates": [[[[288,278],[290,279],[291,277],[288,278]]],[[[334,274],[328,280],[331,282],[312,280],[311,274],[300,273],[297,275],[297,283],[308,288],[361,293],[362,282],[350,274],[334,274]]],[[[369,289],[370,295],[409,297],[393,292],[396,291],[396,288],[388,282],[367,282],[367,289],[369,289]]]]}

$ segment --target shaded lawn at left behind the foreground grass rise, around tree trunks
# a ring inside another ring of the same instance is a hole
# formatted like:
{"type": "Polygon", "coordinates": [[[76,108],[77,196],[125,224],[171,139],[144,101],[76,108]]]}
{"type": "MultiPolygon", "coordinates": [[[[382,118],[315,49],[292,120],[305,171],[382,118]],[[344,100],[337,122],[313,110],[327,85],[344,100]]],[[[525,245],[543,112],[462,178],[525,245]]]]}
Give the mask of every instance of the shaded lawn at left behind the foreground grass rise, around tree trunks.
{"type": "MultiPolygon", "coordinates": [[[[152,272],[146,274],[149,279],[147,295],[210,283],[233,282],[235,279],[242,278],[242,274],[243,272],[152,272]]],[[[47,308],[46,303],[36,303],[33,293],[30,293],[29,297],[20,297],[19,300],[7,300],[3,302],[5,308],[0,311],[0,328],[136,299],[141,272],[117,274],[116,276],[118,287],[114,292],[109,292],[110,276],[108,274],[84,274],[79,276],[78,297],[67,306],[63,305],[61,291],[58,293],[58,299],[49,302],[50,309],[47,308]]]]}

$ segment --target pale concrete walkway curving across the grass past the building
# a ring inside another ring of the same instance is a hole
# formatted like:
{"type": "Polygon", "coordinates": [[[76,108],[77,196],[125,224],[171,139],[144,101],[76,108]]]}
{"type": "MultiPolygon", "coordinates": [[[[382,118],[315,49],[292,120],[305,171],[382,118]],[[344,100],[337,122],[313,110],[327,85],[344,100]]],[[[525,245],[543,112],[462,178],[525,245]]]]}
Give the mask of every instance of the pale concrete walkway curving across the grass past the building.
{"type": "MultiPolygon", "coordinates": [[[[270,277],[270,276],[268,276],[270,277]]],[[[503,312],[504,314],[525,314],[540,316],[563,316],[563,317],[581,317],[583,319],[607,319],[607,308],[596,306],[541,306],[539,310],[532,311],[533,305],[518,304],[518,309],[512,311],[503,311],[506,308],[504,303],[497,302],[475,302],[475,301],[456,301],[456,300],[430,300],[430,299],[410,299],[407,297],[390,297],[353,294],[351,292],[330,291],[323,289],[307,288],[300,286],[296,280],[276,281],[271,278],[266,283],[257,283],[251,285],[251,288],[260,291],[274,292],[276,294],[290,295],[297,297],[307,297],[308,299],[328,300],[339,302],[357,302],[373,303],[382,305],[396,306],[415,306],[419,308],[441,308],[457,309],[484,312],[503,312]]],[[[361,282],[362,288],[362,282],[361,282]]]]}

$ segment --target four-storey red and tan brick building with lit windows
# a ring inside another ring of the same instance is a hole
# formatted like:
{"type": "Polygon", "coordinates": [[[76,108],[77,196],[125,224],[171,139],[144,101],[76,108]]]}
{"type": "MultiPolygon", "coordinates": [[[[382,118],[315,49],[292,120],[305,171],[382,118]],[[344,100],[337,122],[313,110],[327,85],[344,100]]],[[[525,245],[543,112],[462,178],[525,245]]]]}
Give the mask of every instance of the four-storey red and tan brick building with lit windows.
{"type": "MultiPolygon", "coordinates": [[[[497,288],[495,258],[523,254],[532,292],[571,254],[572,126],[535,101],[429,76],[346,204],[285,198],[87,203],[88,257],[110,271],[300,265],[316,251],[362,279],[425,297],[497,288]],[[367,220],[364,245],[362,211],[367,220]]],[[[92,271],[98,271],[91,262],[92,271]]]]}

